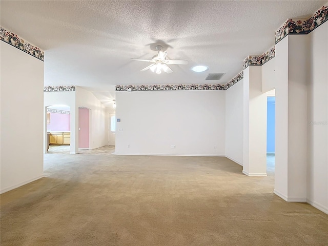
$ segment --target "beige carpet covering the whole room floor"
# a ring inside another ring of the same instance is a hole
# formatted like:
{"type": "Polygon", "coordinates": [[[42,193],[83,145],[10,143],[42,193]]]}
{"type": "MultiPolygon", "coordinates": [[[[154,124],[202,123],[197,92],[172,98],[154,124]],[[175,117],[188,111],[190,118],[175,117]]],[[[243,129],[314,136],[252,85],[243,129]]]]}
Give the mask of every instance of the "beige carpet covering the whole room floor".
{"type": "Polygon", "coordinates": [[[328,215],[224,157],[45,155],[1,195],[1,245],[328,245],[328,215]]]}

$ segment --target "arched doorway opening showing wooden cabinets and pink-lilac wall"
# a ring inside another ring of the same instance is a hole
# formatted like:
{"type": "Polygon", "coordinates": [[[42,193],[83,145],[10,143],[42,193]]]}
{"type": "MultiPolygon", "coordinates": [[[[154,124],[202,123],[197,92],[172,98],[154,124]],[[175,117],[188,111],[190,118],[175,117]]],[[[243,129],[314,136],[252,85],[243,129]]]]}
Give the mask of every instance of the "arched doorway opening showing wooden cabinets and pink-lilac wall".
{"type": "Polygon", "coordinates": [[[46,107],[46,153],[70,153],[71,108],[67,105],[46,107]]]}

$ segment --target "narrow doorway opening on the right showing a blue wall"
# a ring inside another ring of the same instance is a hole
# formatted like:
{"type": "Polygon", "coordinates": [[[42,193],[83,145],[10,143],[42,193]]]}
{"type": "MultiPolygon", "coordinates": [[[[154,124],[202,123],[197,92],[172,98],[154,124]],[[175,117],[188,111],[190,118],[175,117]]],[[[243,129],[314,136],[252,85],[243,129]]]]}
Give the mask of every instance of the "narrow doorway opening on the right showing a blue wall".
{"type": "Polygon", "coordinates": [[[275,172],[275,90],[268,92],[267,98],[267,173],[275,172]]]}

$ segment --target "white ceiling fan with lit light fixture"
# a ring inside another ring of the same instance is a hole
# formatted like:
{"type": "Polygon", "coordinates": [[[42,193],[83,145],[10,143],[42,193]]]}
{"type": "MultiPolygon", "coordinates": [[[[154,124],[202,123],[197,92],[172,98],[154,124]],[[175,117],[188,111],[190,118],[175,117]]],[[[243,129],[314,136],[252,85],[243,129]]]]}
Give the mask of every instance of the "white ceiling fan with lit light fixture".
{"type": "Polygon", "coordinates": [[[139,60],[139,61],[147,61],[148,63],[153,63],[149,66],[147,66],[144,69],[141,69],[140,71],[146,71],[148,69],[150,69],[152,72],[155,72],[157,74],[161,73],[161,70],[163,70],[166,73],[172,73],[172,69],[169,68],[168,65],[171,64],[178,64],[178,65],[186,65],[188,64],[188,60],[169,60],[166,59],[165,57],[167,56],[168,53],[162,51],[163,47],[161,45],[157,45],[156,46],[156,50],[158,51],[157,55],[154,55],[153,58],[151,60],[146,60],[146,59],[134,59],[131,58],[132,60],[139,60]]]}

